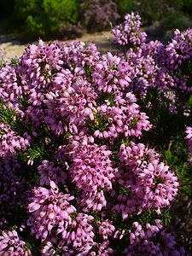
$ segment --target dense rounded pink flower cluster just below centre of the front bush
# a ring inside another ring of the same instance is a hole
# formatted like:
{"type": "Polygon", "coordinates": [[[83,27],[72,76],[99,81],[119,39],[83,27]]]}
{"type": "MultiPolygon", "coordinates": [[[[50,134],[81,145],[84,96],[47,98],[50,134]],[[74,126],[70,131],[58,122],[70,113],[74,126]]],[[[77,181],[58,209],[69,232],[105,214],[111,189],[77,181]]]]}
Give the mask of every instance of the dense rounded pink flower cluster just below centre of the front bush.
{"type": "Polygon", "coordinates": [[[105,145],[79,145],[79,148],[76,148],[69,172],[78,189],[112,189],[116,170],[112,167],[113,162],[109,160],[111,154],[105,145]]]}

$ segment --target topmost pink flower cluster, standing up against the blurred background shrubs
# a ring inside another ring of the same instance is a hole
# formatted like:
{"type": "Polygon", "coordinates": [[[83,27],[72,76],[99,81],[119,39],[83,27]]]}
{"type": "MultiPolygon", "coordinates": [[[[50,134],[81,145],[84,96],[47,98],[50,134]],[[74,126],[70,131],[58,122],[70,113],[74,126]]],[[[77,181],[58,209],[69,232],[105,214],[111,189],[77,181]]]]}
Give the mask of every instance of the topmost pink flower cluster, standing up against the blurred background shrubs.
{"type": "Polygon", "coordinates": [[[142,32],[140,26],[142,25],[141,17],[131,13],[125,15],[125,21],[112,29],[114,35],[114,43],[127,45],[139,45],[145,42],[147,34],[142,32]]]}

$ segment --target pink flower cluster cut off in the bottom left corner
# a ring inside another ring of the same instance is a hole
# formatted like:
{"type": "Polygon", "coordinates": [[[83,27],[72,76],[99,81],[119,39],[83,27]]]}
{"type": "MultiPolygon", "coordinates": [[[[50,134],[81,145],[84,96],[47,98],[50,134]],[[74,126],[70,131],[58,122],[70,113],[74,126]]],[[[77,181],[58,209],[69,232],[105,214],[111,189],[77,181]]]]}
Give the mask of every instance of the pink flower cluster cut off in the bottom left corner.
{"type": "Polygon", "coordinates": [[[20,239],[17,231],[12,230],[2,232],[2,236],[0,236],[0,255],[31,255],[30,249],[25,246],[26,242],[20,239]]]}

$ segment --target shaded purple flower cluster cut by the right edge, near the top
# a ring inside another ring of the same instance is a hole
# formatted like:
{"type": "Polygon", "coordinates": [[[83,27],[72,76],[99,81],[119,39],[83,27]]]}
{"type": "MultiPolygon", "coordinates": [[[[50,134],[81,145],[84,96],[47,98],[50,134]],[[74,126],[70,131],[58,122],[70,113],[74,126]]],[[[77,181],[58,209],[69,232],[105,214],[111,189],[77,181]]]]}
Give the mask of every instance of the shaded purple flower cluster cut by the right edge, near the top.
{"type": "Polygon", "coordinates": [[[192,90],[189,72],[192,56],[191,44],[192,30],[189,28],[184,32],[176,30],[172,41],[157,49],[155,59],[160,67],[160,76],[165,77],[161,81],[165,84],[164,87],[177,87],[179,90],[188,92],[192,90]]]}

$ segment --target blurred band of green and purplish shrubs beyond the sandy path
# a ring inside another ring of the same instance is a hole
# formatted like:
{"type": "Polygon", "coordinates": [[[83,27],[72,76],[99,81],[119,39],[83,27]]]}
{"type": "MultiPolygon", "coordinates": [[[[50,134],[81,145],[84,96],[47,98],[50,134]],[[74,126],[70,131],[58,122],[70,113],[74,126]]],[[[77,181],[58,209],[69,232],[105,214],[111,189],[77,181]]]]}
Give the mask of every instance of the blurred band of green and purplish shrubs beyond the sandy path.
{"type": "Polygon", "coordinates": [[[0,22],[22,41],[70,39],[110,29],[131,11],[142,16],[143,26],[192,26],[192,0],[1,0],[0,22]]]}

